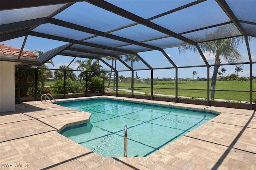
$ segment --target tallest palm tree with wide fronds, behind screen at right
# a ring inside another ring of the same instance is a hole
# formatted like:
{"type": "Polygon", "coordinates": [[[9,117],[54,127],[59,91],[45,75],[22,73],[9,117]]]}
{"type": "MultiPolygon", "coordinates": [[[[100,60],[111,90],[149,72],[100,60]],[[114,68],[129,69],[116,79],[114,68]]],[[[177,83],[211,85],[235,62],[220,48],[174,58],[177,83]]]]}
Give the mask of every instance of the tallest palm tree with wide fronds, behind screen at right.
{"type": "MultiPolygon", "coordinates": [[[[220,26],[216,32],[211,32],[206,35],[206,38],[214,38],[216,35],[223,35],[226,37],[236,36],[238,35],[238,30],[234,26],[234,24],[228,24],[224,26],[220,26]]],[[[250,39],[250,37],[248,37],[250,39]]],[[[194,38],[195,40],[195,38],[194,38]]],[[[196,42],[200,42],[203,40],[196,40],[196,42]]],[[[216,78],[218,74],[219,65],[221,63],[220,59],[224,59],[228,63],[237,63],[242,62],[242,55],[238,51],[238,47],[244,43],[244,38],[233,37],[227,38],[223,40],[216,40],[211,42],[203,42],[198,43],[199,47],[208,52],[208,54],[215,54],[215,63],[214,63],[214,71],[212,74],[212,83],[211,83],[211,100],[214,100],[215,87],[216,87],[216,78]]],[[[185,52],[186,50],[191,50],[197,52],[198,49],[194,45],[184,45],[178,47],[179,52],[185,52]]]]}

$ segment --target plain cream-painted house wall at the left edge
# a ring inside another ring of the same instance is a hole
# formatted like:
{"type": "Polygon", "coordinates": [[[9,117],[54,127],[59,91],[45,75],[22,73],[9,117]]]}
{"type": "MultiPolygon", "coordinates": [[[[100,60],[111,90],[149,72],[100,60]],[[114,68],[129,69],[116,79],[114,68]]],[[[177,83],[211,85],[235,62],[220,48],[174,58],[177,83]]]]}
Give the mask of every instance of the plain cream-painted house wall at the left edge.
{"type": "Polygon", "coordinates": [[[0,61],[0,112],[15,110],[14,62],[0,61]]]}

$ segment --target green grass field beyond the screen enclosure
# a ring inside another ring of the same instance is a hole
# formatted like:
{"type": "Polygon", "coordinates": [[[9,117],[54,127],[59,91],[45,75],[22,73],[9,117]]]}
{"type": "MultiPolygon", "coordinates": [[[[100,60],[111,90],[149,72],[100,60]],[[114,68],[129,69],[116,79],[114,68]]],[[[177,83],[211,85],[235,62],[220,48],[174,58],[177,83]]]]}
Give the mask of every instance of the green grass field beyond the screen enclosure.
{"type": "MultiPolygon", "coordinates": [[[[45,86],[50,87],[54,81],[46,81],[45,86]]],[[[77,81],[79,83],[79,81],[77,81]]],[[[105,88],[107,88],[108,81],[105,81],[105,88]]],[[[209,84],[209,87],[211,82],[209,84]]],[[[128,89],[131,83],[118,82],[118,89],[128,89]]],[[[113,87],[113,82],[110,83],[110,88],[113,87]]],[[[143,93],[151,93],[150,83],[134,83],[134,91],[143,93]]],[[[153,83],[153,93],[160,95],[175,95],[175,81],[156,81],[153,83]],[[172,88],[172,89],[168,89],[172,88]]],[[[207,81],[178,81],[178,96],[207,98],[207,81]],[[190,90],[191,89],[191,90],[190,90]],[[197,90],[193,90],[197,89],[197,90]],[[198,90],[199,89],[199,90],[198,90]]],[[[250,91],[250,82],[245,81],[217,81],[216,90],[239,90],[250,91]]],[[[252,90],[256,91],[256,80],[252,83],[252,90]]],[[[130,94],[129,92],[118,91],[118,93],[130,94]]],[[[136,92],[134,93],[136,94],[136,92]]],[[[144,94],[140,94],[144,95],[144,94]]],[[[256,97],[256,92],[253,92],[253,98],[256,97]]],[[[216,91],[215,99],[224,99],[226,101],[250,101],[250,92],[233,92],[233,91],[216,91]]]]}

